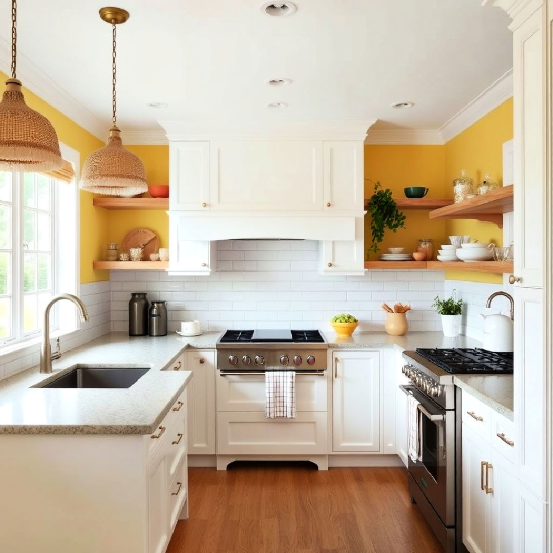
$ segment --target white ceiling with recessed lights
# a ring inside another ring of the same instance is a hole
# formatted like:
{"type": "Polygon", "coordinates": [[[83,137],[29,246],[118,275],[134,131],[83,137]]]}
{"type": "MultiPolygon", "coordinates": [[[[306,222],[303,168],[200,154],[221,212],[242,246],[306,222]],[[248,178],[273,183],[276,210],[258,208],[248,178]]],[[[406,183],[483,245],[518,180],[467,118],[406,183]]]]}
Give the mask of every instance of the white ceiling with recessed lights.
{"type": "MultiPolygon", "coordinates": [[[[297,0],[290,17],[269,17],[262,3],[120,4],[131,18],[118,28],[119,126],[155,131],[158,119],[377,118],[379,129],[437,129],[512,66],[508,17],[481,0],[297,0]],[[267,85],[278,77],[293,83],[267,85]],[[415,107],[390,107],[404,100],[415,107]],[[169,107],[147,106],[154,101],[169,107]],[[266,107],[275,101],[289,107],[266,107]]],[[[91,112],[90,121],[107,128],[111,29],[98,17],[103,5],[20,1],[18,53],[25,75],[32,65],[40,68],[91,112]]],[[[7,40],[9,2],[2,2],[0,22],[0,39],[7,40]]],[[[6,71],[9,60],[0,58],[6,71]]]]}

